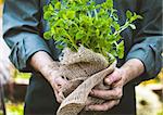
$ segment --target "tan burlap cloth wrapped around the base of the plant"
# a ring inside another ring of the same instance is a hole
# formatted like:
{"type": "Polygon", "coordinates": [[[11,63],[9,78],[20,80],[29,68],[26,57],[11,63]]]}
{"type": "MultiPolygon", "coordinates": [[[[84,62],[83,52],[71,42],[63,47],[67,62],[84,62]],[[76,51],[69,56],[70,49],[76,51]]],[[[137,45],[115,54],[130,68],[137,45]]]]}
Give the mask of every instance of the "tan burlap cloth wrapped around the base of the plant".
{"type": "Polygon", "coordinates": [[[64,95],[64,100],[57,115],[78,115],[85,107],[86,102],[103,102],[103,100],[88,95],[95,87],[109,89],[103,85],[103,78],[114,71],[116,62],[109,66],[109,62],[103,55],[83,46],[78,49],[78,52],[64,49],[63,53],[59,74],[70,84],[61,89],[60,94],[64,95]]]}

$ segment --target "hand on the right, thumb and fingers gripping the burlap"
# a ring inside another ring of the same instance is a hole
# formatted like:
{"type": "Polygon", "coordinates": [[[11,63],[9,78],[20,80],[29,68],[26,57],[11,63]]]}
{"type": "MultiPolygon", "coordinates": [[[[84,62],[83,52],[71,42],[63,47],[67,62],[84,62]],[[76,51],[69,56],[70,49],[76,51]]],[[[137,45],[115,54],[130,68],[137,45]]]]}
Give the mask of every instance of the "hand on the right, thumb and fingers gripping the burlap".
{"type": "Polygon", "coordinates": [[[105,77],[105,85],[111,86],[110,90],[92,89],[90,92],[91,97],[105,100],[102,104],[91,104],[86,105],[86,111],[108,111],[113,106],[117,105],[123,95],[123,86],[125,85],[124,78],[126,74],[121,68],[115,68],[115,71],[105,77]]]}

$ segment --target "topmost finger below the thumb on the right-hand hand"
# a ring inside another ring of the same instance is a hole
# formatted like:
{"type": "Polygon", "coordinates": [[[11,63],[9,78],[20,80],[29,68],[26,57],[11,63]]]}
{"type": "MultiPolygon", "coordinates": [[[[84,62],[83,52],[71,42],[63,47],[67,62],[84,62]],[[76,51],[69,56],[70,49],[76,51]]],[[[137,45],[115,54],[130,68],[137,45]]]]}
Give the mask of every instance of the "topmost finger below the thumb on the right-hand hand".
{"type": "Polygon", "coordinates": [[[121,99],[122,98],[122,88],[115,88],[113,90],[98,90],[92,89],[90,92],[91,97],[100,98],[103,100],[121,99]]]}

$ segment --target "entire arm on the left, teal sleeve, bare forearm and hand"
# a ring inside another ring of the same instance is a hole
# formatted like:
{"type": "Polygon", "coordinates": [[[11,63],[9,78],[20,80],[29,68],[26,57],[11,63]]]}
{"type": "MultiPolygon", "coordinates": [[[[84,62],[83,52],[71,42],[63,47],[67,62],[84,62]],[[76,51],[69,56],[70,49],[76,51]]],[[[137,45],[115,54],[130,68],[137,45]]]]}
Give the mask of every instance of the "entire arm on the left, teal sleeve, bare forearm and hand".
{"type": "Polygon", "coordinates": [[[54,77],[55,71],[49,66],[53,60],[46,41],[40,37],[40,0],[5,0],[3,38],[11,48],[10,60],[15,67],[23,72],[33,68],[40,72],[52,86],[57,100],[61,101],[58,86],[65,81],[59,76],[54,77]]]}

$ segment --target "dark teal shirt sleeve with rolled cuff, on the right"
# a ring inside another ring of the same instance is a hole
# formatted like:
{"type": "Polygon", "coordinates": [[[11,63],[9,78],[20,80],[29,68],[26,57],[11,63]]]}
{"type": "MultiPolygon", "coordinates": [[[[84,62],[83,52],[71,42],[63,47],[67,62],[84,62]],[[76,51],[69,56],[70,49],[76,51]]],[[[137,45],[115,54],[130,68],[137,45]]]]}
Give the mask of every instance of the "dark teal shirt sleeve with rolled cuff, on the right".
{"type": "Polygon", "coordinates": [[[143,75],[137,79],[138,84],[154,78],[160,72],[163,40],[162,0],[143,0],[139,7],[143,20],[137,24],[134,46],[126,58],[126,60],[139,59],[146,67],[143,75]]]}

